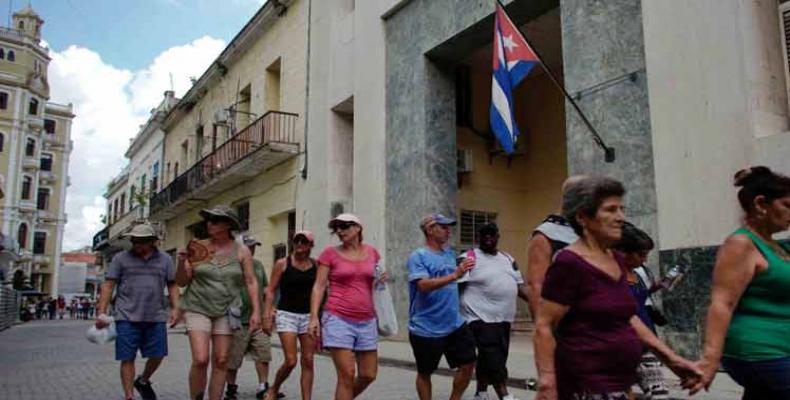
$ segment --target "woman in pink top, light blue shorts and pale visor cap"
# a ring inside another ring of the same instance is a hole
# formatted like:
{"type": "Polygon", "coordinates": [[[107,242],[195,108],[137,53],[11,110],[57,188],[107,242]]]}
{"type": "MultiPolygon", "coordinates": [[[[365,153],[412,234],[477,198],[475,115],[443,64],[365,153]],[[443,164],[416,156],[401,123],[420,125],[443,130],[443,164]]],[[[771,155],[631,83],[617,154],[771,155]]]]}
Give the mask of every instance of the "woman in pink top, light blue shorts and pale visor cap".
{"type": "Polygon", "coordinates": [[[309,331],[318,336],[318,311],[328,286],[321,317],[322,344],[331,351],[337,371],[335,400],[351,400],[378,373],[373,280],[380,257],[375,247],[362,243],[362,222],[355,215],[338,215],[329,221],[329,229],[340,239],[340,246],[328,246],[318,257],[309,331]]]}

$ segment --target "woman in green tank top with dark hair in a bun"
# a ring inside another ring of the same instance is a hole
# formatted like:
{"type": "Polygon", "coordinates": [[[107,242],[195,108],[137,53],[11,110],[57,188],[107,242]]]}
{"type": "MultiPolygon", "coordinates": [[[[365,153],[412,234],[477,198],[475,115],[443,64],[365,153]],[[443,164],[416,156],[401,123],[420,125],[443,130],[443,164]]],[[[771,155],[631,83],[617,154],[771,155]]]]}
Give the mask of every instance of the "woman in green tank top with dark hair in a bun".
{"type": "Polygon", "coordinates": [[[710,386],[721,362],[743,399],[790,399],[790,249],[772,238],[790,227],[790,178],[752,167],[735,186],[745,223],[716,258],[704,374],[692,393],[710,386]]]}

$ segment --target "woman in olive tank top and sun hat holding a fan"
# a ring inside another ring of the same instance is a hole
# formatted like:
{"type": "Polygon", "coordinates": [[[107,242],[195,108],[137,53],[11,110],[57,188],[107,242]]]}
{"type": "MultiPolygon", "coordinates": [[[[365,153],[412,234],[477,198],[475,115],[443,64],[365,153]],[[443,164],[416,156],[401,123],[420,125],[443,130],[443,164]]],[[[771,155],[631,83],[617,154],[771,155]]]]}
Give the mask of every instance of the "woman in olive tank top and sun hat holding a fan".
{"type": "Polygon", "coordinates": [[[249,329],[254,331],[260,328],[261,305],[250,250],[233,238],[232,232],[240,227],[235,211],[218,205],[202,210],[200,216],[206,222],[209,239],[193,240],[187,250],[179,251],[176,283],[186,287],[180,308],[192,349],[190,399],[204,397],[210,355],[208,399],[220,400],[232,335],[228,314],[232,306],[240,305],[236,304],[240,303],[239,294],[246,289],[252,302],[249,329]]]}

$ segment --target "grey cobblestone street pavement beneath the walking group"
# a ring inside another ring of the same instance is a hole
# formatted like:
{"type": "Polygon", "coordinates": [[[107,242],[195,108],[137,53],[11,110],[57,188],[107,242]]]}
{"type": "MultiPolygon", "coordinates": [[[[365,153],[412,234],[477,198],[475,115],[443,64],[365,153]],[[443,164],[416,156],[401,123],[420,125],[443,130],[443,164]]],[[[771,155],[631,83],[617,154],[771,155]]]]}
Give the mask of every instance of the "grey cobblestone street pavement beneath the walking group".
{"type": "MultiPolygon", "coordinates": [[[[122,399],[118,364],[113,346],[98,346],[85,340],[87,321],[42,321],[17,325],[0,332],[0,399],[122,399]]],[[[187,373],[190,356],[182,333],[169,335],[170,356],[154,375],[154,389],[160,399],[187,399],[187,373]]],[[[282,361],[279,349],[273,349],[270,376],[282,361]]],[[[138,362],[138,371],[142,362],[138,362]]],[[[286,382],[287,399],[299,399],[298,368],[286,382]]],[[[253,399],[256,384],[252,365],[246,363],[239,373],[241,398],[253,399]]],[[[316,357],[315,400],[332,399],[335,373],[329,358],[316,357]]],[[[451,380],[435,376],[434,398],[446,399],[451,380]]],[[[473,382],[474,384],[474,382],[473,382]]],[[[379,378],[359,397],[360,400],[413,400],[414,372],[382,366],[379,378]]],[[[514,391],[522,400],[532,394],[514,391]]],[[[493,396],[493,392],[492,392],[493,396]]],[[[473,397],[471,388],[464,396],[473,397]]]]}

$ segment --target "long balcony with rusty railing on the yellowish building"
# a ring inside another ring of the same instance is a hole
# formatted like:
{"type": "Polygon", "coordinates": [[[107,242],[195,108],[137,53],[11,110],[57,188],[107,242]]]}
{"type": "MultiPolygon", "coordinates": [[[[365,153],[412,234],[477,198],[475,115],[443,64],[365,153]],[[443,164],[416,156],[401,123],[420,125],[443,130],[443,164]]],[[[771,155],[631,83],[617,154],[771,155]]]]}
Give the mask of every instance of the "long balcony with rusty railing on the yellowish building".
{"type": "Polygon", "coordinates": [[[151,197],[151,218],[167,220],[296,157],[297,114],[269,111],[151,197]]]}

